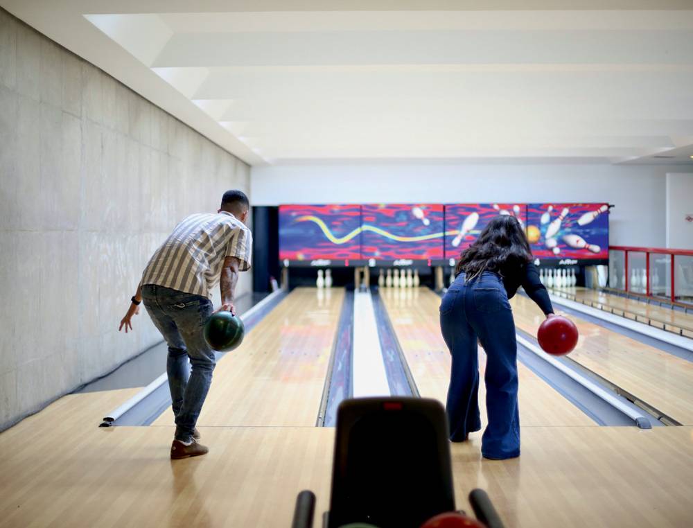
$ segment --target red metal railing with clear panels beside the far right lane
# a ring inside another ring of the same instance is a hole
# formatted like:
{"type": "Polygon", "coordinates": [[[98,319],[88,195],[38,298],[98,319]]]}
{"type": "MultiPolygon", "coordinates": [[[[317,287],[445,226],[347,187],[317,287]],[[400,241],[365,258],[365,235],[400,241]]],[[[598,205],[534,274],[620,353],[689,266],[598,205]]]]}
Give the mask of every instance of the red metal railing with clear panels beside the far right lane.
{"type": "Polygon", "coordinates": [[[645,294],[647,297],[668,297],[672,303],[693,304],[693,250],[610,246],[609,285],[616,290],[645,294]],[[639,254],[644,254],[644,276],[641,277],[635,271],[637,264],[633,263],[634,257],[640,256],[639,254]],[[665,258],[665,262],[662,263],[661,259],[657,261],[656,258],[651,258],[651,255],[669,256],[669,262],[667,263],[665,258]],[[622,268],[622,274],[619,280],[620,268],[622,268]],[[658,281],[658,273],[662,268],[665,271],[663,291],[658,281]],[[676,289],[677,274],[678,290],[676,289]]]}

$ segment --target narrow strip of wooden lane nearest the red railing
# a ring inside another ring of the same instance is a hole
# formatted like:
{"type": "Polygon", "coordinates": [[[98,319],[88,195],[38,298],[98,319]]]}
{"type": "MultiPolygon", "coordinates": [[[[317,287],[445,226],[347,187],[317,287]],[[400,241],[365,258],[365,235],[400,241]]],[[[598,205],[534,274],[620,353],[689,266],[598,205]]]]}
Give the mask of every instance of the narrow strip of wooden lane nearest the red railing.
{"type": "Polygon", "coordinates": [[[663,325],[659,322],[665,322],[667,326],[674,326],[675,329],[681,329],[686,337],[693,337],[693,314],[685,313],[679,310],[672,310],[663,306],[649,304],[635,299],[626,299],[619,295],[612,295],[606,292],[590,290],[588,288],[552,288],[558,292],[565,292],[569,295],[574,295],[577,301],[587,303],[595,303],[601,305],[605,309],[615,308],[615,313],[620,315],[620,310],[626,312],[624,317],[635,319],[633,314],[638,315],[638,321],[647,324],[647,319],[653,319],[652,326],[662,328],[663,325]]]}

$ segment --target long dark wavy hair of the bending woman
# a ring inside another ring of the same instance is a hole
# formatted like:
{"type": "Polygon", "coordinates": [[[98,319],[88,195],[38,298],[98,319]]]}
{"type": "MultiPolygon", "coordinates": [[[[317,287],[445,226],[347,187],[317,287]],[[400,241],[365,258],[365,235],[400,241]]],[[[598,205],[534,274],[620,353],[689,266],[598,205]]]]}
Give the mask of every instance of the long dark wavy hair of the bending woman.
{"type": "Polygon", "coordinates": [[[485,271],[502,274],[509,267],[520,267],[531,260],[532,249],[517,218],[496,216],[459,256],[455,275],[464,272],[469,280],[485,271]]]}

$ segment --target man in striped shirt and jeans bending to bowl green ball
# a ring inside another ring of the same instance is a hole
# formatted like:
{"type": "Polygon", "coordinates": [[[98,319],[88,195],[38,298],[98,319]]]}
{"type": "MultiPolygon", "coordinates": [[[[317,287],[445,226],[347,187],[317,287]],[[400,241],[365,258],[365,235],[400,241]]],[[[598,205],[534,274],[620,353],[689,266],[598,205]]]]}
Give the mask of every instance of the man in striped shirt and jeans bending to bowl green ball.
{"type": "Polygon", "coordinates": [[[245,225],[249,202],[241,191],[227,191],[217,213],[190,215],[173,229],[150,258],[119,330],[132,330],[132,317],[144,302],[168,344],[168,387],[176,431],[171,458],[204,455],[195,423],[211,385],[214,351],[202,335],[213,313],[209,297],[220,285],[221,306],[235,313],[238,272],[249,270],[252,234],[245,225]],[[192,366],[188,373],[188,358],[192,366]]]}

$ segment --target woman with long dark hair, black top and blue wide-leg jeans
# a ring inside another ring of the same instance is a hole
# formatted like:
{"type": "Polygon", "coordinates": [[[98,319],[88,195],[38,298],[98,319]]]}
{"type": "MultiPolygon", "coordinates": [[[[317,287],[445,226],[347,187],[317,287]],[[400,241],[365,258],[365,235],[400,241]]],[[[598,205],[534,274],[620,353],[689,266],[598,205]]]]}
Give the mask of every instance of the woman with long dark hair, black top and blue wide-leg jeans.
{"type": "Polygon", "coordinates": [[[482,437],[482,455],[489,459],[518,457],[517,342],[508,299],[522,285],[547,317],[553,308],[517,218],[493,218],[462,252],[455,275],[440,305],[441,331],[453,356],[446,405],[450,440],[465,441],[470,432],[481,430],[478,340],[486,351],[489,419],[482,437]]]}

